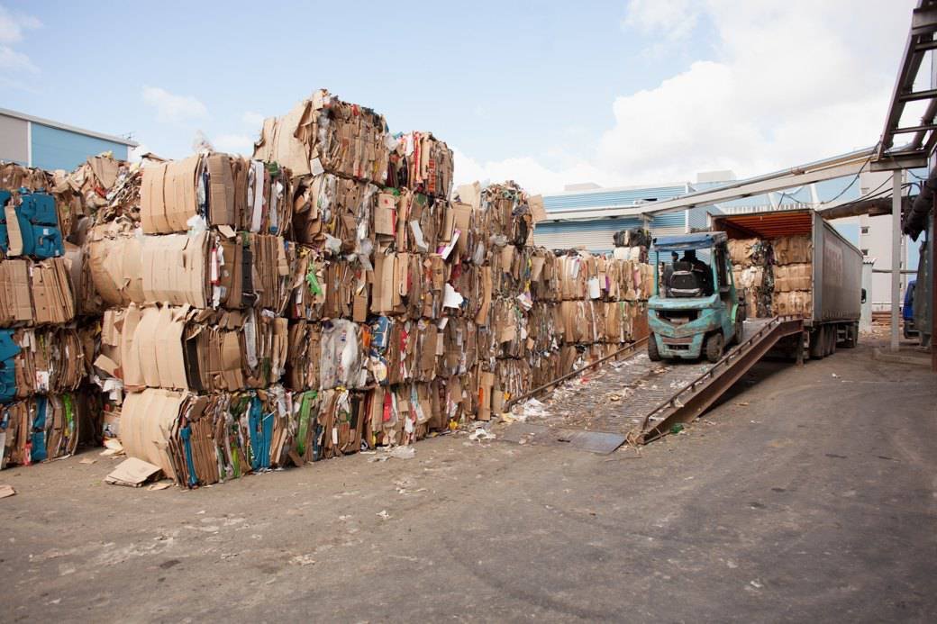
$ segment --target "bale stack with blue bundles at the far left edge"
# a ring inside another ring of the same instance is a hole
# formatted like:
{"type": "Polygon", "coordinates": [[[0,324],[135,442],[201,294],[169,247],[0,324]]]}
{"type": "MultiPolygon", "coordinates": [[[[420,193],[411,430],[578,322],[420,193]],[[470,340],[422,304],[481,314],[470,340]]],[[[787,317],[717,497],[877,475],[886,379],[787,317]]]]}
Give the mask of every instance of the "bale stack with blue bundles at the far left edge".
{"type": "MultiPolygon", "coordinates": [[[[0,468],[74,453],[91,403],[72,283],[73,198],[45,171],[0,165],[0,468]]],[[[76,267],[77,268],[77,267],[76,267]]]]}

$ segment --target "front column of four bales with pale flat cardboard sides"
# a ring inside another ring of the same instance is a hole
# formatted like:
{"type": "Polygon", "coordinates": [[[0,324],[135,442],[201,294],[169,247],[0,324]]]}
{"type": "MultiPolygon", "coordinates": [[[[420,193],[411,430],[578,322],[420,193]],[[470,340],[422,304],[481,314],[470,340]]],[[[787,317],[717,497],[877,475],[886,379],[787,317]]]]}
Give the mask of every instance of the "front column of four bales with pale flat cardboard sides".
{"type": "Polygon", "coordinates": [[[139,212],[111,210],[88,234],[108,306],[94,363],[107,433],[190,486],[282,465],[289,172],[199,154],[145,167],[137,187],[139,212]]]}

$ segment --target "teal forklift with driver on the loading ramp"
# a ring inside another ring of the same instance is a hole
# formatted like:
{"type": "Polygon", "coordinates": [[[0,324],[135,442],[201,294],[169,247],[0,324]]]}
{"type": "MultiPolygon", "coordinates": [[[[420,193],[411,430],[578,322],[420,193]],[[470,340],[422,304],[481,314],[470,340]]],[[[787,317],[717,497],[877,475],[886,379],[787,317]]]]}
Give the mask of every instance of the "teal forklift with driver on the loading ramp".
{"type": "Polygon", "coordinates": [[[718,362],[727,345],[742,339],[745,304],[732,275],[725,232],[660,236],[654,293],[647,302],[647,357],[718,362]]]}

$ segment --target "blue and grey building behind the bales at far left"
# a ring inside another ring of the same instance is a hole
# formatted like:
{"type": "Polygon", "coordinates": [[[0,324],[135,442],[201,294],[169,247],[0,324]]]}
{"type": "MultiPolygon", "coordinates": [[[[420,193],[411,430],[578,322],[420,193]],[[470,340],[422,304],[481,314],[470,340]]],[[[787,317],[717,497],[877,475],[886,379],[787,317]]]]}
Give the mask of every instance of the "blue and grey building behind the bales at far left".
{"type": "Polygon", "coordinates": [[[88,156],[112,152],[129,160],[136,141],[0,109],[0,160],[46,171],[71,171],[88,156]]]}

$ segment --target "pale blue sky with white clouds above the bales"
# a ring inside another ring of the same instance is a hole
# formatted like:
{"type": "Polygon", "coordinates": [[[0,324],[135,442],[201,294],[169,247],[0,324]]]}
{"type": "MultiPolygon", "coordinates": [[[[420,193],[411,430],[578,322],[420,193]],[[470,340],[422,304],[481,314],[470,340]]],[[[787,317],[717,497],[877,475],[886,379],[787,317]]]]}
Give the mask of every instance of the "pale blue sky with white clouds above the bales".
{"type": "Polygon", "coordinates": [[[7,1],[0,107],[249,155],[324,87],[446,141],[457,183],[746,177],[878,140],[915,4],[7,1]]]}

